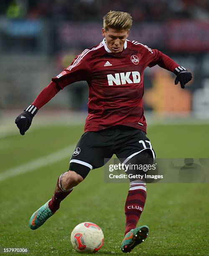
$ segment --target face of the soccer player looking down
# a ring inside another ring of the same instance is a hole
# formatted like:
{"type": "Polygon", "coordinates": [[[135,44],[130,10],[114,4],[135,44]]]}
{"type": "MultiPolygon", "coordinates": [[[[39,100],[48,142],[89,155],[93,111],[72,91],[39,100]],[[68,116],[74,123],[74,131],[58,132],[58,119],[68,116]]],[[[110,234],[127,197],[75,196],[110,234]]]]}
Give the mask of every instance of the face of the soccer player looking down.
{"type": "Polygon", "coordinates": [[[102,36],[105,37],[107,47],[112,51],[112,53],[118,53],[123,50],[123,46],[128,35],[129,30],[109,28],[105,31],[104,28],[102,28],[102,36]]]}

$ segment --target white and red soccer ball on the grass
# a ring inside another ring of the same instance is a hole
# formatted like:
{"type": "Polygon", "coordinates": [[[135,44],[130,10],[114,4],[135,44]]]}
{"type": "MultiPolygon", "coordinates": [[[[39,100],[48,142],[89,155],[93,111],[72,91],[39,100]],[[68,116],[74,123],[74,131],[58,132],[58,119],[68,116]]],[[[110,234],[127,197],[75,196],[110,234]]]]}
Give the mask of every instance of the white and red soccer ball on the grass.
{"type": "Polygon", "coordinates": [[[92,222],[83,222],[74,228],[70,237],[71,244],[78,252],[95,253],[103,246],[102,229],[92,222]]]}

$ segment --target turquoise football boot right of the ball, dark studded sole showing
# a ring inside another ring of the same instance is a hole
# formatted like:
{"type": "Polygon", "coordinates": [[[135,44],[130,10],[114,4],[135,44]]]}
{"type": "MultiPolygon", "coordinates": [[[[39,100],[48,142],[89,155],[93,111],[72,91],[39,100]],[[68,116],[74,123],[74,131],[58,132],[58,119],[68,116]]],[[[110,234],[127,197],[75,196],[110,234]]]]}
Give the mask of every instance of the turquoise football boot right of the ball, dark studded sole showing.
{"type": "Polygon", "coordinates": [[[139,228],[135,228],[130,230],[124,237],[121,250],[124,253],[129,253],[133,250],[135,246],[145,241],[149,234],[148,226],[140,226],[139,228]]]}

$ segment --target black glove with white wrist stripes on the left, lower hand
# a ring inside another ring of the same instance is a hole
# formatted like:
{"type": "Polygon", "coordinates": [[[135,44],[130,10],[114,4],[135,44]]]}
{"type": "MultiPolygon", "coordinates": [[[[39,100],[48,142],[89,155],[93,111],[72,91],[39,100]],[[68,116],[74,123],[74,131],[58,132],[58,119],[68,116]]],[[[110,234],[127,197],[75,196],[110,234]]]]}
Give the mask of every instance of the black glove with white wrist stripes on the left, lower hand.
{"type": "Polygon", "coordinates": [[[36,115],[36,113],[37,108],[34,105],[30,105],[15,119],[15,123],[18,126],[21,135],[24,135],[25,132],[29,129],[33,117],[36,115]]]}

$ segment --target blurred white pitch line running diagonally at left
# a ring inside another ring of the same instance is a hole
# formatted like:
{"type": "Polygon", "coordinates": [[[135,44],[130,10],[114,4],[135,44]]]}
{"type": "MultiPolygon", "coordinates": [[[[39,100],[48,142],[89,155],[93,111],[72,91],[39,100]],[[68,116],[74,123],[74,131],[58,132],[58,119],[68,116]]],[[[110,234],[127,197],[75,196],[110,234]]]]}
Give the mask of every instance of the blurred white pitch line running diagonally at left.
{"type": "Polygon", "coordinates": [[[69,157],[70,159],[70,156],[74,148],[75,148],[75,144],[72,144],[50,155],[39,157],[38,159],[30,161],[26,164],[21,164],[20,166],[17,166],[15,168],[7,169],[4,172],[0,173],[0,182],[10,177],[15,177],[26,172],[31,172],[35,169],[46,166],[48,164],[53,164],[62,159],[65,159],[66,157],[69,157]]]}

